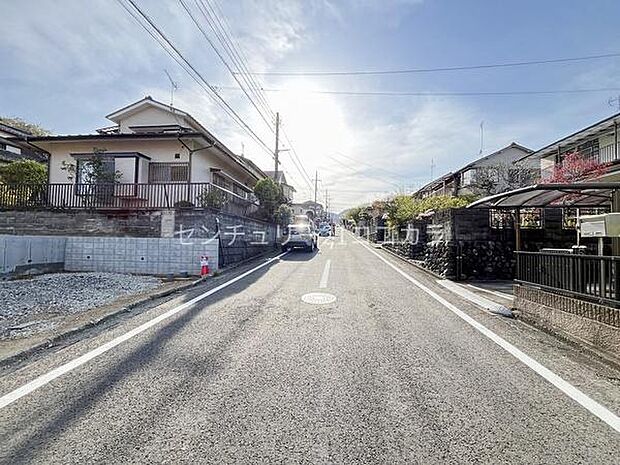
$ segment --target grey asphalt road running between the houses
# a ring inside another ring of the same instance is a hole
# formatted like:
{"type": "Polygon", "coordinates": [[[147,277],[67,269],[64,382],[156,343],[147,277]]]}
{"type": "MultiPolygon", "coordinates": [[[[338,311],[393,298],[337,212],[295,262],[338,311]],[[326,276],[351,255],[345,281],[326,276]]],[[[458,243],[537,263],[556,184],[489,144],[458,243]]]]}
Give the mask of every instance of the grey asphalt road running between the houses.
{"type": "MultiPolygon", "coordinates": [[[[620,411],[620,372],[379,253],[620,411]]],[[[0,395],[201,291],[192,292],[5,374],[0,395]]],[[[0,410],[0,458],[11,464],[617,464],[619,456],[609,424],[345,235],[323,239],[318,254],[285,255],[0,410]],[[302,302],[311,292],[336,300],[302,302]]]]}

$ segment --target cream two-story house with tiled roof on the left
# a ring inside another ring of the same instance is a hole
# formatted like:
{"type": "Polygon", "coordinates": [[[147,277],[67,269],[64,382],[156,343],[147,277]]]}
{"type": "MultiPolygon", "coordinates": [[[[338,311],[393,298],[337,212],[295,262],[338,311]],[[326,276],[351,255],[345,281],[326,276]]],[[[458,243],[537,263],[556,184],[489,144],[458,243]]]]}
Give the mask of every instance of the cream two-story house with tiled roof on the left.
{"type": "Polygon", "coordinates": [[[28,139],[49,154],[49,186],[40,196],[49,205],[153,209],[255,203],[253,187],[265,173],[189,113],[145,97],[106,118],[114,124],[96,133],[28,139]]]}

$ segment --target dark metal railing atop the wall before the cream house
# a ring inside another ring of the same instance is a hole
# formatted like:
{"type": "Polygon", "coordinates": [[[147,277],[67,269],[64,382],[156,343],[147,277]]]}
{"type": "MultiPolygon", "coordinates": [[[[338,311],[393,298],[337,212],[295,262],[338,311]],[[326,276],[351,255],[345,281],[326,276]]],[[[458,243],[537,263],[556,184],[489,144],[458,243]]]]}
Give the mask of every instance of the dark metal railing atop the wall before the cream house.
{"type": "Polygon", "coordinates": [[[253,194],[235,194],[210,183],[0,184],[0,209],[157,210],[213,207],[248,213],[253,194]]]}

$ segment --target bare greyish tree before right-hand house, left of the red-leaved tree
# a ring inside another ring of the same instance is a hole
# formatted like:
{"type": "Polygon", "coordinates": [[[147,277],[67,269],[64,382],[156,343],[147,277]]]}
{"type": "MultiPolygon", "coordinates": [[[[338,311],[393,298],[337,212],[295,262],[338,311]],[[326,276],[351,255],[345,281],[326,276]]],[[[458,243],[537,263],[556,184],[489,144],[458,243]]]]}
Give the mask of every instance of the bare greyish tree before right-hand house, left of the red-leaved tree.
{"type": "Polygon", "coordinates": [[[468,187],[478,196],[494,195],[534,184],[537,177],[538,171],[523,163],[504,163],[477,168],[468,187]]]}

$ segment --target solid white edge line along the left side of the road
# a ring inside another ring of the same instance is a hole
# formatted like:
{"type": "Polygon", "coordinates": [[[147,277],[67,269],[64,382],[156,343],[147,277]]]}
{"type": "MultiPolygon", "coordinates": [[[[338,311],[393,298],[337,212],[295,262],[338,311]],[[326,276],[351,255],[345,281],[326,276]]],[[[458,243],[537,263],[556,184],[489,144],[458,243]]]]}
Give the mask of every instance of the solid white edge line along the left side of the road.
{"type": "Polygon", "coordinates": [[[98,357],[99,355],[102,355],[106,352],[108,352],[109,350],[113,349],[114,347],[118,346],[119,344],[122,344],[123,342],[131,339],[134,336],[137,336],[140,333],[143,333],[144,331],[146,331],[149,328],[152,328],[153,326],[157,325],[158,323],[161,323],[162,321],[170,318],[171,316],[176,315],[177,313],[179,313],[182,310],[185,310],[186,308],[194,305],[197,302],[200,302],[201,300],[205,299],[206,297],[209,297],[210,295],[215,294],[216,292],[221,291],[222,289],[227,288],[228,286],[230,286],[231,284],[236,283],[237,281],[242,280],[243,278],[245,278],[246,276],[251,275],[252,273],[254,273],[255,271],[269,265],[270,263],[279,260],[282,256],[286,255],[288,252],[284,252],[281,253],[280,255],[276,255],[275,257],[270,258],[269,260],[265,261],[264,263],[261,263],[260,265],[252,268],[251,270],[246,271],[245,273],[240,274],[239,276],[234,277],[233,279],[231,279],[230,281],[226,281],[225,283],[220,284],[217,287],[214,287],[213,289],[200,294],[197,297],[194,297],[191,300],[188,300],[187,302],[185,302],[184,304],[181,304],[177,307],[174,307],[173,309],[168,310],[165,313],[162,313],[161,315],[159,315],[158,317],[153,318],[152,320],[147,321],[146,323],[138,326],[137,328],[132,329],[131,331],[126,332],[125,334],[118,336],[114,339],[112,339],[109,342],[106,342],[105,344],[97,347],[96,349],[91,350],[90,352],[85,353],[84,355],[81,355],[80,357],[65,363],[64,365],[59,366],[58,368],[54,368],[52,371],[39,376],[38,378],[35,378],[34,380],[30,381],[29,383],[24,384],[23,386],[15,389],[14,391],[9,392],[8,394],[3,395],[2,397],[0,397],[0,409],[6,407],[7,405],[12,404],[13,402],[15,402],[16,400],[30,394],[31,392],[35,391],[36,389],[39,389],[42,386],[45,386],[47,383],[49,383],[50,381],[55,380],[56,378],[59,378],[60,376],[69,373],[70,371],[76,369],[77,367],[84,365],[85,363],[91,361],[92,359],[94,359],[95,357],[98,357]]]}

